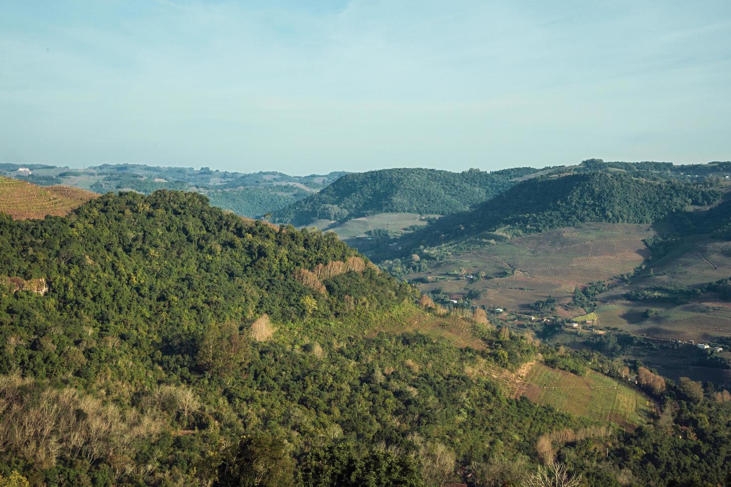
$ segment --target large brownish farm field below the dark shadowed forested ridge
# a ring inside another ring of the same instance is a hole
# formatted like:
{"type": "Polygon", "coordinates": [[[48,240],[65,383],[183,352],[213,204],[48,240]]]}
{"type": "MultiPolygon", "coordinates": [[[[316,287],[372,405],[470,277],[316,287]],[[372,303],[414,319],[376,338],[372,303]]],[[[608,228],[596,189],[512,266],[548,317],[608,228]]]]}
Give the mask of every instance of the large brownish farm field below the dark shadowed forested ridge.
{"type": "Polygon", "coordinates": [[[553,296],[569,302],[577,286],[631,272],[647,256],[642,240],[654,235],[648,225],[587,223],[485,245],[430,264],[430,271],[407,278],[436,277],[420,284],[423,291],[442,288],[450,294],[473,289],[476,304],[528,310],[539,299],[553,296]],[[512,275],[470,282],[455,275],[485,272],[512,275]],[[442,280],[439,280],[439,278],[442,280]]]}

